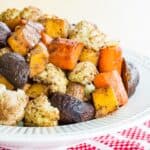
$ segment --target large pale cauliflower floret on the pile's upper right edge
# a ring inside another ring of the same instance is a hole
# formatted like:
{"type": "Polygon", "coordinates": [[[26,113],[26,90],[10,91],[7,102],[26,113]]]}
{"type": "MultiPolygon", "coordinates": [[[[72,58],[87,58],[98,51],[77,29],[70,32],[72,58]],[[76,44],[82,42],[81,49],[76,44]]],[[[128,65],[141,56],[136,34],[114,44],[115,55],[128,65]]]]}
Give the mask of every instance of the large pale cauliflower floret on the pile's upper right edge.
{"type": "Polygon", "coordinates": [[[69,37],[84,43],[87,48],[99,51],[104,44],[106,35],[99,31],[95,25],[87,21],[80,21],[70,31],[69,37]]]}

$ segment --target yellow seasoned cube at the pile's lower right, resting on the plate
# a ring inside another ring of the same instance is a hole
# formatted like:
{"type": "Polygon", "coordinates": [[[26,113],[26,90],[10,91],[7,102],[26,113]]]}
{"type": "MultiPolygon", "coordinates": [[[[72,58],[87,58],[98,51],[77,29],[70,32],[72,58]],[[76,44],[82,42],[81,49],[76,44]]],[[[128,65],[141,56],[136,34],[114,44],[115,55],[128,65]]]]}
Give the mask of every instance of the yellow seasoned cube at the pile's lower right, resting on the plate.
{"type": "Polygon", "coordinates": [[[111,87],[96,89],[93,92],[93,102],[96,109],[96,118],[115,111],[119,106],[115,92],[111,87]]]}

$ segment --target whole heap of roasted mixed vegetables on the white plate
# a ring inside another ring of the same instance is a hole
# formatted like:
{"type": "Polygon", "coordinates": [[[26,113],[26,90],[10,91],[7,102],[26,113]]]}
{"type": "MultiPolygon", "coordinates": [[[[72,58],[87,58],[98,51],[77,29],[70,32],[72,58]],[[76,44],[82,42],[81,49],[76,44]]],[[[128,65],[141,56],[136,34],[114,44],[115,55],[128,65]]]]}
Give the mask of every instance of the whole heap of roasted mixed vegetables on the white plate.
{"type": "Polygon", "coordinates": [[[0,124],[56,126],[104,117],[139,82],[118,42],[87,21],[35,7],[0,14],[0,124]]]}

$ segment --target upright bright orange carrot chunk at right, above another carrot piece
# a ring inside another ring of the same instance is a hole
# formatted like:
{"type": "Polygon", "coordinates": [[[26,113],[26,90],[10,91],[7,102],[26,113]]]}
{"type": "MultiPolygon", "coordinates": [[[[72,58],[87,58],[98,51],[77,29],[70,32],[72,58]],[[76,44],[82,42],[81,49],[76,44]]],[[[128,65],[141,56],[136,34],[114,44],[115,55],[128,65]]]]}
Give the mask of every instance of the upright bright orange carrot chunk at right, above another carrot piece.
{"type": "Polygon", "coordinates": [[[121,74],[122,50],[118,45],[105,46],[100,50],[99,71],[109,72],[117,70],[121,74]]]}

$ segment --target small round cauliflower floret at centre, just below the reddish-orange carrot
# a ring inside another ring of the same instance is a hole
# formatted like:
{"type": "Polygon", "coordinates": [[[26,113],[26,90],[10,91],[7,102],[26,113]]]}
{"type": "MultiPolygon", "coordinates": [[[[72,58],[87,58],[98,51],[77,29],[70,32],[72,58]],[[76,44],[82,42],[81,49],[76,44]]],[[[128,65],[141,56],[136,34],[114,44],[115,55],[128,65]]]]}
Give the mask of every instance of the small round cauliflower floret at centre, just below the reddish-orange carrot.
{"type": "Polygon", "coordinates": [[[97,73],[98,71],[93,63],[88,61],[80,62],[76,65],[73,71],[70,72],[69,80],[86,85],[94,80],[97,73]]]}

